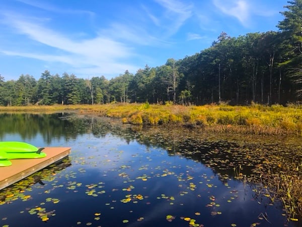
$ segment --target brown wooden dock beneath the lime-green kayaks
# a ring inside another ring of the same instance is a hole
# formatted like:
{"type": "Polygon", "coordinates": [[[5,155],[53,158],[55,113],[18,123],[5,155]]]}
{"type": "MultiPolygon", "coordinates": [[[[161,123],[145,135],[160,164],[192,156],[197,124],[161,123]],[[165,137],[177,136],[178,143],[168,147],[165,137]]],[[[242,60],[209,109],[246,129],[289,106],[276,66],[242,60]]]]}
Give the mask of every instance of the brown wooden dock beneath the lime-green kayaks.
{"type": "Polygon", "coordinates": [[[40,171],[70,154],[70,147],[46,147],[44,158],[13,159],[12,165],[0,167],[0,190],[40,171]]]}

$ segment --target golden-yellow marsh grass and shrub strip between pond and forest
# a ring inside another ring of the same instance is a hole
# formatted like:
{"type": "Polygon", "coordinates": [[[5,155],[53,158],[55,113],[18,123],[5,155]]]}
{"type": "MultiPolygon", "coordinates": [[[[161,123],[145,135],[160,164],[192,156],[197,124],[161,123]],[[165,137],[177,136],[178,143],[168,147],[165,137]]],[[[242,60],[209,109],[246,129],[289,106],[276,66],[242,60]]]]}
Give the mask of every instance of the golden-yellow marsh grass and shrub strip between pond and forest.
{"type": "Polygon", "coordinates": [[[103,104],[103,105],[41,105],[0,106],[0,112],[51,113],[75,111],[118,118],[133,125],[174,125],[202,128],[211,132],[302,136],[302,105],[230,106],[157,105],[157,104],[103,104]]]}

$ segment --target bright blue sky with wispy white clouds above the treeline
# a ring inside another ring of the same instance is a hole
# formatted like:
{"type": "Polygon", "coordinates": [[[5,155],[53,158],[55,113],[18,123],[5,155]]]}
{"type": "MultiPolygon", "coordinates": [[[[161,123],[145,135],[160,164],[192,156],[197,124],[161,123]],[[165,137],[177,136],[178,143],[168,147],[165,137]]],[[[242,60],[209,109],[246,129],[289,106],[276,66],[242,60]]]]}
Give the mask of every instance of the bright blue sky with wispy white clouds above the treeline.
{"type": "Polygon", "coordinates": [[[286,0],[1,0],[0,74],[135,74],[232,37],[277,30],[286,0]]]}

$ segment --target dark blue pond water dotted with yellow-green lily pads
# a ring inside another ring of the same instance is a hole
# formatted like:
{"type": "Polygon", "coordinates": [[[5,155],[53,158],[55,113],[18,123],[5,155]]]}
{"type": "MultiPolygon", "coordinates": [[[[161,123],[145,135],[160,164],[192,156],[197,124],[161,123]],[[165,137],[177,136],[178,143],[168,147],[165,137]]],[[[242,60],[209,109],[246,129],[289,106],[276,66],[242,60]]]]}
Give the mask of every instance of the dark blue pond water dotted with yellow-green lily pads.
{"type": "MultiPolygon", "coordinates": [[[[282,203],[247,180],[257,165],[249,152],[274,150],[280,140],[243,142],[66,113],[3,113],[0,122],[1,141],[71,147],[68,158],[0,191],[0,226],[301,224],[288,222],[282,203]]],[[[282,140],[291,152],[290,139],[282,140]]]]}

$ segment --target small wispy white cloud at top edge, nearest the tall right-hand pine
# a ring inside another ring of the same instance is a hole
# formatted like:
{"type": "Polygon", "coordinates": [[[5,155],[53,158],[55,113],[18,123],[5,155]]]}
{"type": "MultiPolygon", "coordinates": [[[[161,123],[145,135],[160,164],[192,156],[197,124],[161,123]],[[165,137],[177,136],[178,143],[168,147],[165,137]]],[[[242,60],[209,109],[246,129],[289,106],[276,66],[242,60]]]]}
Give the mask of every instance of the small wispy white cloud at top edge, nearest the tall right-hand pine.
{"type": "Polygon", "coordinates": [[[236,17],[244,26],[249,25],[250,6],[246,0],[213,0],[222,13],[236,17]]]}

